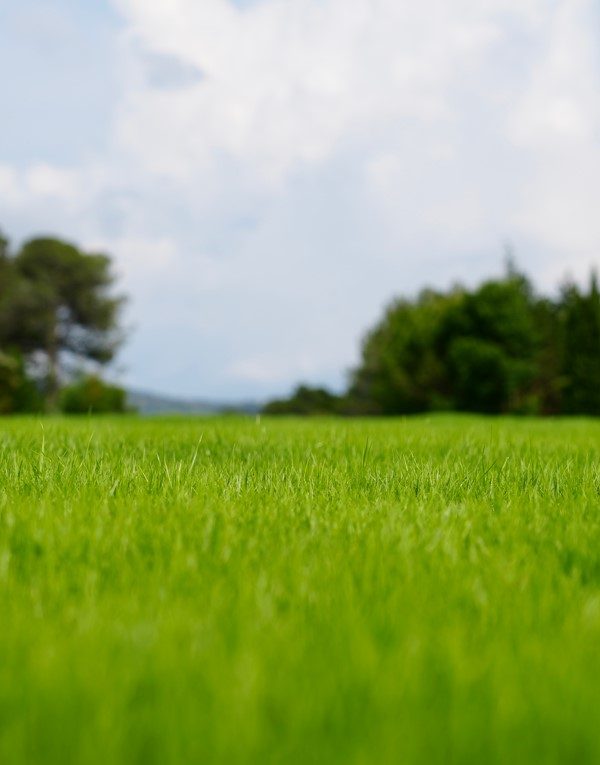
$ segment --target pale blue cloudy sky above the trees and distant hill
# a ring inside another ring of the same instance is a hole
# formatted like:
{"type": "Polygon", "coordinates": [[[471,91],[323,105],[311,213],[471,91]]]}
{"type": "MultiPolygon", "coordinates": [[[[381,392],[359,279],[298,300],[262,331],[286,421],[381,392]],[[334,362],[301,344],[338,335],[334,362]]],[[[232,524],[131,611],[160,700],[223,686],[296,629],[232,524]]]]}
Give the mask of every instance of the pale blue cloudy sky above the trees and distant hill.
{"type": "Polygon", "coordinates": [[[600,265],[597,0],[0,0],[0,227],[114,258],[111,374],[341,389],[384,306],[600,265]]]}

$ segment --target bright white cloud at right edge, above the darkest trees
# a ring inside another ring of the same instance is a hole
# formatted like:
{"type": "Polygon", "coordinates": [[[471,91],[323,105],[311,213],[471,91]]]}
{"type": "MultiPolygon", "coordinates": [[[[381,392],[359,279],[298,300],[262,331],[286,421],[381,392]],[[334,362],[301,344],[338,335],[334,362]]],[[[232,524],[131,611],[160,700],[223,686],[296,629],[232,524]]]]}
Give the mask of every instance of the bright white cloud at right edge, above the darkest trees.
{"type": "Polygon", "coordinates": [[[532,67],[511,134],[531,172],[515,215],[548,251],[549,286],[600,262],[600,59],[590,3],[560,4],[532,67]]]}

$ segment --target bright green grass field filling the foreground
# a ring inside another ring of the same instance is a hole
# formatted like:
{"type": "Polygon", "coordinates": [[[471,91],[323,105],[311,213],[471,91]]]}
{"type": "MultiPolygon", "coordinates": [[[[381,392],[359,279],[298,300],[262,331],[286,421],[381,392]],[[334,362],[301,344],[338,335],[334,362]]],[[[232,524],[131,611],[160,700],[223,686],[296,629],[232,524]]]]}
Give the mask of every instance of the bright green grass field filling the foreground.
{"type": "Polygon", "coordinates": [[[600,421],[0,424],[3,765],[600,762],[600,421]]]}

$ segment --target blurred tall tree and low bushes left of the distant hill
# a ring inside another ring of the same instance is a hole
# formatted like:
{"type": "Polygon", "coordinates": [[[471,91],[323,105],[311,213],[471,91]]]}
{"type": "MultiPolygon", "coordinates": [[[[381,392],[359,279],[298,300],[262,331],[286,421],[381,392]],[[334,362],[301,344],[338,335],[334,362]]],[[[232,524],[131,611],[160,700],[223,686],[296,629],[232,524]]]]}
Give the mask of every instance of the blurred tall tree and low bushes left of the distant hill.
{"type": "Polygon", "coordinates": [[[114,282],[107,255],[0,232],[0,414],[125,409],[99,374],[123,339],[114,282]]]}

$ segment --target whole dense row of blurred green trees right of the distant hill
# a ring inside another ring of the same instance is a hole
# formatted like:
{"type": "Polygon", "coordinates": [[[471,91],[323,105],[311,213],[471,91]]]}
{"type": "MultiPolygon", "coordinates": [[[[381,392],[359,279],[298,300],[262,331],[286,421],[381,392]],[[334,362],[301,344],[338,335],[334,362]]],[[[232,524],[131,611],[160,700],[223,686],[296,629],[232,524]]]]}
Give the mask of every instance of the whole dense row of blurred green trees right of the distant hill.
{"type": "Polygon", "coordinates": [[[512,262],[474,289],[399,298],[366,334],[342,395],[299,386],[271,414],[600,415],[600,293],[538,295],[512,262]]]}

